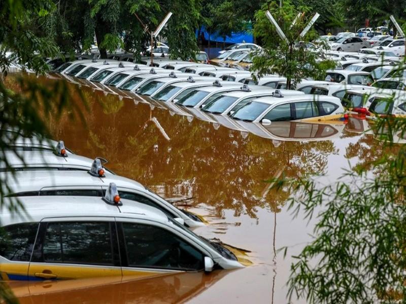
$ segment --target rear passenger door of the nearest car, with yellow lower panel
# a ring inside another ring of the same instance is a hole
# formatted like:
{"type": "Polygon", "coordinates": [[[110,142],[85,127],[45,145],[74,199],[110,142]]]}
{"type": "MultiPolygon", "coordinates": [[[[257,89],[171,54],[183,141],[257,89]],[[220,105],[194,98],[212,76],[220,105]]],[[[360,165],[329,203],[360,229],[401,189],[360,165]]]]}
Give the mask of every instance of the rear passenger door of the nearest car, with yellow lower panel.
{"type": "Polygon", "coordinates": [[[114,217],[41,221],[28,268],[30,280],[121,275],[114,217]]]}

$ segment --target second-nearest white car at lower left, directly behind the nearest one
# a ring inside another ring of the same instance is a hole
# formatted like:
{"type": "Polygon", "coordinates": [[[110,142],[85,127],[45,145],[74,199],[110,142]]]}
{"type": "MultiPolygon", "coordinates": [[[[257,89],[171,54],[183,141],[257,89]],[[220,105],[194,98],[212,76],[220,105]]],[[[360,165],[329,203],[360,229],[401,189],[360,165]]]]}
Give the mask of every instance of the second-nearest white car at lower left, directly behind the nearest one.
{"type": "Polygon", "coordinates": [[[141,183],[114,174],[100,174],[100,167],[92,166],[88,172],[67,170],[21,171],[14,175],[1,173],[9,178],[9,195],[23,196],[96,196],[102,197],[111,182],[117,185],[121,197],[155,207],[171,218],[182,218],[188,227],[204,226],[204,220],[190,212],[176,208],[141,183]],[[15,178],[13,178],[15,177],[15,178]]]}

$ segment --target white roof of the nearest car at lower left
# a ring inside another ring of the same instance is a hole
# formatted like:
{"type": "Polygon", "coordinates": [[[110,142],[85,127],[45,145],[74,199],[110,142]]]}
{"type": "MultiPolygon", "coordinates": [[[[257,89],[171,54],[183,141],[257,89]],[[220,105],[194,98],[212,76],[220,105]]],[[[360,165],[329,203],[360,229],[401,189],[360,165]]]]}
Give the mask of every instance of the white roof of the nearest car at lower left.
{"type": "MultiPolygon", "coordinates": [[[[160,210],[146,204],[121,199],[123,206],[107,204],[100,197],[74,196],[32,196],[18,198],[23,213],[3,208],[0,211],[2,225],[19,222],[39,222],[44,218],[58,217],[129,217],[167,222],[167,216],[160,210]],[[57,208],[56,208],[57,207],[57,208]]],[[[5,199],[6,204],[7,200],[5,199]]]]}

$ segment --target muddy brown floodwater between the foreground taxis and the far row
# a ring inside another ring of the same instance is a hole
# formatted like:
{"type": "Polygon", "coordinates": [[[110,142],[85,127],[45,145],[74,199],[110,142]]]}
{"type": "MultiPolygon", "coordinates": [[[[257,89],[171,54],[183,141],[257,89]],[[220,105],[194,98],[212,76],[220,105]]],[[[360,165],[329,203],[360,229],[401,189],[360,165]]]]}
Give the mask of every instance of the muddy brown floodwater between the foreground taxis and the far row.
{"type": "Polygon", "coordinates": [[[254,264],[236,271],[139,281],[12,282],[21,303],[287,303],[291,256],[310,240],[313,223],[300,215],[293,218],[286,206],[290,189],[275,192],[266,180],[281,174],[296,178],[325,173],[323,182],[328,182],[349,164],[365,165],[382,153],[380,142],[361,134],[368,128],[361,119],[327,127],[276,125],[270,133],[280,136],[272,139],[85,86],[82,90],[90,102],[87,127],[67,120],[50,122],[54,139],[64,140],[79,155],[108,159],[108,168],[165,198],[184,200],[181,208],[209,221],[196,233],[250,250],[254,264]],[[311,140],[282,140],[297,134],[311,140]],[[289,246],[285,258],[278,252],[283,246],[289,246]]]}

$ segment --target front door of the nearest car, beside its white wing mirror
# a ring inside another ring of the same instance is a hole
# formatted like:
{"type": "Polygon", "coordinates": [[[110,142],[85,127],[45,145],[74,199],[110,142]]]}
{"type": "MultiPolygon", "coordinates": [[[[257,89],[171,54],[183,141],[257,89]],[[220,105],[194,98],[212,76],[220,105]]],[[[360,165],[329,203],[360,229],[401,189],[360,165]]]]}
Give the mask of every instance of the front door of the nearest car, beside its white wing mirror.
{"type": "Polygon", "coordinates": [[[123,276],[151,277],[204,269],[202,248],[159,223],[116,218],[123,276]]]}

